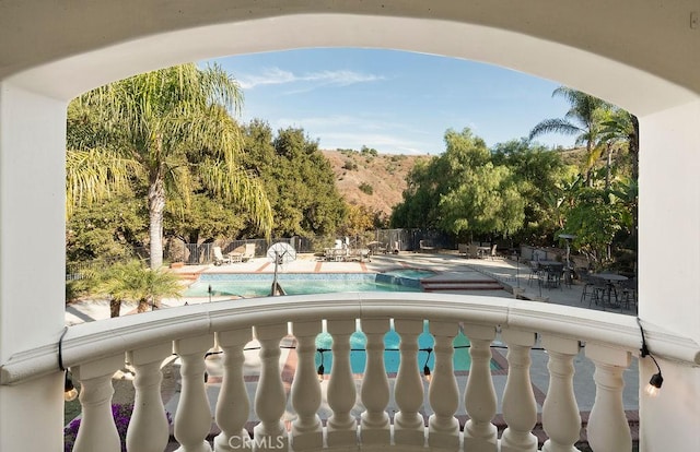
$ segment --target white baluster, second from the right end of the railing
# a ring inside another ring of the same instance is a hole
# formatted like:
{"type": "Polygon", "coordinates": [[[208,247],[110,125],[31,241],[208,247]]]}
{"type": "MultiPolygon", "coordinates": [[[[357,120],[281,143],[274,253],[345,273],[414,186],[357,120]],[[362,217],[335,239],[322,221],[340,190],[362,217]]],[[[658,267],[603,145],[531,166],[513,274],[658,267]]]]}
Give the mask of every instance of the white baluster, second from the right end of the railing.
{"type": "Polygon", "coordinates": [[[549,354],[549,389],[542,406],[542,427],[549,437],[542,452],[578,451],[573,444],[581,438],[581,415],[573,392],[573,358],[579,341],[542,334],[549,354]]]}

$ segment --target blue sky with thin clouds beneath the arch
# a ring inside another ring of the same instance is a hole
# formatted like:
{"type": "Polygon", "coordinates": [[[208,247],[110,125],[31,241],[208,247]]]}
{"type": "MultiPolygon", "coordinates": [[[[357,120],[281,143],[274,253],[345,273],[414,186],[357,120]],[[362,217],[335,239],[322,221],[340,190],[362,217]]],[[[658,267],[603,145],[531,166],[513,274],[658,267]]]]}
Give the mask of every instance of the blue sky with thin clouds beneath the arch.
{"type": "MultiPolygon", "coordinates": [[[[394,50],[316,48],[215,60],[241,84],[241,120],[302,128],[324,150],[440,154],[445,130],[465,127],[489,146],[526,136],[569,105],[559,83],[504,68],[394,50]]],[[[206,62],[202,62],[206,63],[206,62]]],[[[570,146],[571,136],[539,143],[570,146]]]]}

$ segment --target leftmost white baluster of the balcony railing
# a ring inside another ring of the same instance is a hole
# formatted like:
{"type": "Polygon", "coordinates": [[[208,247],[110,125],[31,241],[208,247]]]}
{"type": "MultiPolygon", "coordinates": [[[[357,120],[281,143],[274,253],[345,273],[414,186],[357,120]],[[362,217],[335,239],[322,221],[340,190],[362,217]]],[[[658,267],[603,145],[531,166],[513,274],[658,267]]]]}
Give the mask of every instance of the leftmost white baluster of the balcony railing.
{"type": "Polygon", "coordinates": [[[82,405],[82,420],[73,452],[121,451],[112,415],[112,377],[122,366],[124,354],[119,354],[71,368],[73,378],[81,384],[82,405]]]}

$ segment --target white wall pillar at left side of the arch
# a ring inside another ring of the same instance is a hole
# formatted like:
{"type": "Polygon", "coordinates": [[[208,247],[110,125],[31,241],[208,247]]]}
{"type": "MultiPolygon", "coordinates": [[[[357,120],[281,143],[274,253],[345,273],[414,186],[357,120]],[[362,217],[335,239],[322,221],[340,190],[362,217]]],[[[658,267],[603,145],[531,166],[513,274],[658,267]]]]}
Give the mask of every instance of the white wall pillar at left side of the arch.
{"type": "MultiPolygon", "coordinates": [[[[66,103],[0,85],[0,362],[58,342],[65,310],[66,103]]],[[[0,385],[0,450],[58,451],[62,374],[0,385]]]]}

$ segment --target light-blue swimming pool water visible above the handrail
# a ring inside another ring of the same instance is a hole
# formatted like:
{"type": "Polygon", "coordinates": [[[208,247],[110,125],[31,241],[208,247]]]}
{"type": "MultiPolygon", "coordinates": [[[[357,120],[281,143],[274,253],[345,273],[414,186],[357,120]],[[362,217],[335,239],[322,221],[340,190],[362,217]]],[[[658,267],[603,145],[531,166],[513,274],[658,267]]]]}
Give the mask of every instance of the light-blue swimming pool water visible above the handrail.
{"type": "MultiPolygon", "coordinates": [[[[432,273],[432,272],[431,272],[432,273]]],[[[283,273],[278,281],[288,295],[329,294],[339,292],[422,292],[415,277],[383,273],[283,273]]],[[[205,273],[185,292],[185,297],[213,296],[243,298],[270,295],[271,274],[205,273]]]]}

